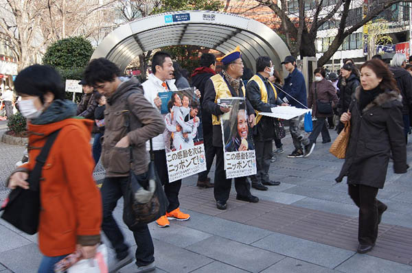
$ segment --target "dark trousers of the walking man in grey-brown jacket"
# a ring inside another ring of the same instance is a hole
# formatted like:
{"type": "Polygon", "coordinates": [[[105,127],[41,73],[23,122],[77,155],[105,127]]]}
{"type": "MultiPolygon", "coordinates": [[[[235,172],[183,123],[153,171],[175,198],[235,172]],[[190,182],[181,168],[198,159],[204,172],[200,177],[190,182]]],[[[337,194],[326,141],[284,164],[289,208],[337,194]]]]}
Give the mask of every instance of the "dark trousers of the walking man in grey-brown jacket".
{"type": "MultiPolygon", "coordinates": [[[[117,200],[123,196],[128,184],[128,177],[104,178],[102,189],[102,204],[103,204],[103,221],[102,230],[107,239],[115,248],[116,258],[124,259],[128,254],[129,246],[124,241],[124,236],[119,226],[113,218],[113,210],[117,205],[117,200]]],[[[153,246],[152,236],[148,225],[142,224],[133,230],[137,250],[136,264],[138,266],[148,265],[155,261],[155,247],[153,246]]]]}

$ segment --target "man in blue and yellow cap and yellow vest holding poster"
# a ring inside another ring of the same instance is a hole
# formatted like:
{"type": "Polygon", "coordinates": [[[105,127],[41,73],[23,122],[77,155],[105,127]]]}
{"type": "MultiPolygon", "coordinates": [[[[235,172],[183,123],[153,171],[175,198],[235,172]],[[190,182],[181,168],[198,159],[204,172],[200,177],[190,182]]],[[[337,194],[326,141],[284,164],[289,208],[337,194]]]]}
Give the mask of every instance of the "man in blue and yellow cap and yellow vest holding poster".
{"type": "MultiPolygon", "coordinates": [[[[205,85],[205,97],[203,97],[203,108],[211,113],[213,124],[213,145],[216,147],[216,171],[214,179],[214,198],[218,209],[227,208],[227,200],[231,189],[231,179],[226,179],[225,159],[223,153],[222,128],[219,116],[229,112],[230,108],[219,106],[216,102],[220,98],[245,97],[245,89],[241,77],[243,75],[243,62],[240,48],[217,58],[223,64],[222,72],[207,80],[205,85]]],[[[254,126],[255,115],[248,99],[246,99],[249,123],[254,126]]],[[[236,199],[247,202],[259,202],[259,198],[253,196],[250,191],[249,182],[246,177],[235,178],[236,199]]]]}

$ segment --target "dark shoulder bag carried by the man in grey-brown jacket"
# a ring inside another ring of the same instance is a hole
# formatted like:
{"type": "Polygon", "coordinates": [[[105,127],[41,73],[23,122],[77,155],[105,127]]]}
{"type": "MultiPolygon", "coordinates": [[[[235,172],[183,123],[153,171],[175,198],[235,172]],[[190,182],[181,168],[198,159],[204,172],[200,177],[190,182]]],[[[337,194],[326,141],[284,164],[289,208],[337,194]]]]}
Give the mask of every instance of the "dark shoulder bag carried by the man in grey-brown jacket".
{"type": "MultiPolygon", "coordinates": [[[[129,94],[131,95],[131,93],[129,94]]],[[[128,95],[128,96],[129,96],[128,95]]],[[[127,98],[128,98],[127,96],[127,98]]],[[[126,98],[126,102],[127,102],[126,98]]],[[[130,132],[130,110],[126,118],[126,126],[130,132]]],[[[123,221],[133,230],[141,224],[148,224],[165,215],[169,206],[168,198],[163,191],[159,176],[155,169],[155,154],[150,139],[150,163],[144,174],[135,174],[133,164],[133,146],[130,145],[130,171],[128,187],[124,193],[123,221]]]]}

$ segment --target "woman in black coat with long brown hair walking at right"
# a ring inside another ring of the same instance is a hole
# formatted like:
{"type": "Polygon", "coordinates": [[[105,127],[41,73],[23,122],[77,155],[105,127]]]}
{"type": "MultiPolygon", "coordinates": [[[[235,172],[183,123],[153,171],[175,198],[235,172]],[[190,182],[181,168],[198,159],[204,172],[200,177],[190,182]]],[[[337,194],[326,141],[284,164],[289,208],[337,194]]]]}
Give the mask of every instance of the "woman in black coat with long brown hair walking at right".
{"type": "Polygon", "coordinates": [[[365,253],[375,246],[378,224],[387,209],[376,195],[385,183],[390,154],[394,172],[407,172],[402,97],[384,62],[369,60],[362,65],[361,86],[349,110],[341,116],[341,122],[351,122],[351,130],[336,181],[347,176],[349,195],[359,207],[358,252],[365,253]]]}

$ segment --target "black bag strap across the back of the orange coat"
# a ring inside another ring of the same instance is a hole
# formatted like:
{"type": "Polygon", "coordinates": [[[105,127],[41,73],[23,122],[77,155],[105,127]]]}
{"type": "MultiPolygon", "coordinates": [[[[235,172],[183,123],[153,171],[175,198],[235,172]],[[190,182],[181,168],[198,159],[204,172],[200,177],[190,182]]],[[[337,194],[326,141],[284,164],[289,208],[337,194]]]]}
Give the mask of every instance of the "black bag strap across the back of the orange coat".
{"type": "Polygon", "coordinates": [[[41,170],[43,169],[43,166],[46,163],[47,156],[49,155],[50,149],[52,148],[52,145],[56,140],[56,137],[59,132],[60,129],[52,132],[52,134],[49,134],[49,137],[47,137],[47,141],[41,149],[40,154],[38,154],[38,156],[36,157],[36,165],[34,165],[34,169],[30,171],[29,176],[29,185],[32,191],[38,191],[39,189],[41,170]]]}

